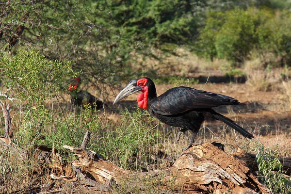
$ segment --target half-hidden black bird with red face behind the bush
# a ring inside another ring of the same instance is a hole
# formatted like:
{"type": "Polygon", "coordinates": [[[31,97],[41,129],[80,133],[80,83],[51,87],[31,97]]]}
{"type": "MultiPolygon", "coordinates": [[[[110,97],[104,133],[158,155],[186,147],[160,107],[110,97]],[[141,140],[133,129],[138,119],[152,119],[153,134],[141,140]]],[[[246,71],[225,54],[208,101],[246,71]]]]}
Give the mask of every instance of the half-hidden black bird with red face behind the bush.
{"type": "Polygon", "coordinates": [[[97,97],[94,97],[89,92],[84,90],[77,91],[80,81],[80,78],[74,78],[74,84],[69,85],[68,90],[71,92],[71,104],[79,107],[81,107],[81,105],[89,104],[92,108],[102,108],[103,102],[100,101],[97,97]]]}

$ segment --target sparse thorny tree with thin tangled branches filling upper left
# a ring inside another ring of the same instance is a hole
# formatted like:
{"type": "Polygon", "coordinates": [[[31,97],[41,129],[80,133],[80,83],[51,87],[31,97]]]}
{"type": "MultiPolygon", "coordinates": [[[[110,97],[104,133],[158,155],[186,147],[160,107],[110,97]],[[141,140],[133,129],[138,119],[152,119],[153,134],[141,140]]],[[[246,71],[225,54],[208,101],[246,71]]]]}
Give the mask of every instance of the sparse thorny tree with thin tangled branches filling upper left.
{"type": "Polygon", "coordinates": [[[118,85],[127,74],[123,65],[129,53],[138,47],[121,37],[123,32],[110,19],[110,10],[95,9],[92,1],[10,0],[0,8],[6,13],[0,19],[0,49],[14,53],[24,45],[52,60],[65,58],[76,71],[83,70],[86,82],[95,79],[118,85]],[[10,44],[19,26],[24,27],[19,44],[10,44]]]}

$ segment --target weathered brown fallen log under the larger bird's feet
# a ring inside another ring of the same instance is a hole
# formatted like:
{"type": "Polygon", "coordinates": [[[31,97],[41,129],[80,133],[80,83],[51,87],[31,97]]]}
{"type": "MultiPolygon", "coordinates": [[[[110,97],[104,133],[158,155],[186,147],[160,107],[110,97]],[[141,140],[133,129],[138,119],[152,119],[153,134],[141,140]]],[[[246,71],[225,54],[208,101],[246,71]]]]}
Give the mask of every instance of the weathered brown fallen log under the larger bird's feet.
{"type": "MultiPolygon", "coordinates": [[[[90,132],[87,131],[79,148],[64,146],[74,151],[79,160],[72,165],[80,167],[99,184],[118,186],[125,178],[157,177],[162,175],[162,184],[179,188],[183,193],[222,194],[232,191],[235,194],[269,194],[262,184],[241,160],[226,154],[210,143],[192,146],[168,169],[138,173],[122,169],[86,149],[90,132]],[[110,183],[111,182],[111,183],[110,183]]],[[[141,183],[142,184],[142,183],[141,183]]]]}

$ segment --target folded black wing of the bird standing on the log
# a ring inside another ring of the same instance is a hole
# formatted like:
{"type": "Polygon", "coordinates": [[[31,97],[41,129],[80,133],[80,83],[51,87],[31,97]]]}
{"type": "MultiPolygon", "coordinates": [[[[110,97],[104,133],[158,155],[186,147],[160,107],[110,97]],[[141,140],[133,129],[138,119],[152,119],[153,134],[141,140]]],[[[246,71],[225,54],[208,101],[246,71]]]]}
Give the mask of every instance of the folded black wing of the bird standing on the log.
{"type": "Polygon", "coordinates": [[[151,101],[153,111],[163,115],[184,113],[193,109],[212,108],[220,105],[236,105],[240,102],[221,94],[196,90],[190,87],[176,87],[151,101]]]}

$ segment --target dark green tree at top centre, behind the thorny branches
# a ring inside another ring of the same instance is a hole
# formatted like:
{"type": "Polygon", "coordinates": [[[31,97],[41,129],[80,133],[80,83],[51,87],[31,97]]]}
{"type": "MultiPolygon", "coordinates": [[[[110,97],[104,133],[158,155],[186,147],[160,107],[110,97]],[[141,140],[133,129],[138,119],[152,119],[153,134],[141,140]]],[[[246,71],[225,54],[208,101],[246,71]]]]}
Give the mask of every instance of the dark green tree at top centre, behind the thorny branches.
{"type": "Polygon", "coordinates": [[[101,0],[96,3],[96,8],[98,10],[106,6],[111,11],[111,18],[107,21],[116,21],[125,32],[126,38],[154,43],[157,46],[190,40],[196,30],[192,10],[195,4],[196,0],[173,0],[171,3],[164,0],[101,0]]]}

